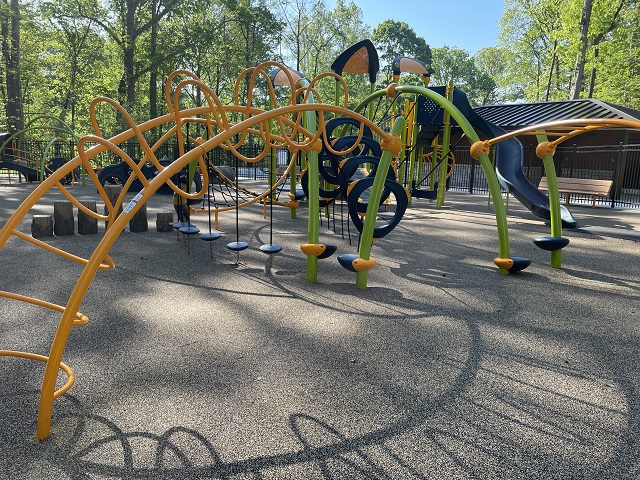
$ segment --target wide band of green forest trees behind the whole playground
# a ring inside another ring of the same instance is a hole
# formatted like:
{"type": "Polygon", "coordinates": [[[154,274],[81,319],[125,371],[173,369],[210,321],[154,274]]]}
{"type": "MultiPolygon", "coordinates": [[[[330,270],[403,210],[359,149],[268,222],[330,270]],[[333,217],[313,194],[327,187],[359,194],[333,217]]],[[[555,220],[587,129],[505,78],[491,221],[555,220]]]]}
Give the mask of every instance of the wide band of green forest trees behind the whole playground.
{"type": "MultiPolygon", "coordinates": [[[[416,22],[434,21],[422,15],[416,22]]],[[[366,25],[346,0],[333,8],[324,0],[0,0],[0,31],[0,131],[10,133],[48,114],[86,134],[97,96],[116,99],[137,122],[157,117],[166,113],[163,82],[179,68],[230,103],[247,67],[273,60],[313,78],[365,38],[380,56],[377,88],[404,55],[435,69],[432,85],[453,81],[473,105],[593,97],[640,109],[638,0],[506,0],[497,45],[474,55],[432,49],[404,22],[366,25]]],[[[346,80],[353,104],[369,93],[368,77],[346,80]]],[[[332,101],[333,83],[319,92],[332,101]]],[[[120,131],[115,114],[99,120],[105,136],[120,131]]]]}

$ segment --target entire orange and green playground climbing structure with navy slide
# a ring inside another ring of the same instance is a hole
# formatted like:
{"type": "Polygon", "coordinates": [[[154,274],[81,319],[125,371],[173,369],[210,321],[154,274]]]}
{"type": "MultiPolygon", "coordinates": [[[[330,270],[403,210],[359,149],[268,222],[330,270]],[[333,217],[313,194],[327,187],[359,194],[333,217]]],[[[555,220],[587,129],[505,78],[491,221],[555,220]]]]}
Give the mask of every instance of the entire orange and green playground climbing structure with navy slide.
{"type": "MultiPolygon", "coordinates": [[[[360,46],[354,51],[362,52],[363,48],[365,53],[370,55],[370,50],[367,49],[366,45],[360,46]]],[[[404,63],[406,64],[407,62],[404,63]]],[[[348,65],[348,62],[345,62],[345,65],[348,65]]],[[[409,65],[414,64],[410,63],[409,65]]],[[[46,363],[40,393],[37,437],[44,439],[50,435],[53,401],[68,391],[74,382],[73,371],[62,362],[62,356],[71,328],[84,325],[89,320],[86,315],[79,312],[83,298],[98,270],[115,268],[115,262],[109,256],[109,250],[133,215],[149,200],[151,195],[165,185],[168,185],[171,191],[178,196],[187,199],[188,202],[196,202],[204,198],[204,203],[209,204],[207,210],[211,214],[211,193],[209,188],[213,183],[212,177],[214,175],[222,183],[232,185],[235,188],[236,195],[238,194],[237,179],[229,178],[229,175],[225,175],[207,161],[209,152],[216,148],[228,150],[239,160],[248,163],[258,162],[269,155],[271,155],[270,158],[272,159],[269,188],[262,193],[247,192],[251,194],[250,198],[242,203],[236,200],[233,205],[215,206],[216,228],[217,214],[219,212],[235,210],[237,214],[239,208],[261,201],[266,211],[267,203],[271,205],[278,204],[273,198],[273,194],[287,178],[291,182],[290,198],[289,201],[280,202],[280,204],[289,207],[292,217],[295,217],[298,199],[295,193],[296,175],[294,172],[296,163],[303,162],[306,165],[303,173],[305,180],[302,183],[308,202],[308,226],[307,242],[301,245],[300,248],[306,255],[306,279],[310,283],[316,282],[319,259],[326,258],[335,251],[335,246],[323,243],[320,239],[319,218],[321,209],[329,206],[338,194],[343,194],[347,198],[350,216],[360,231],[361,237],[358,253],[340,255],[338,260],[342,266],[356,272],[356,287],[365,288],[368,271],[375,265],[375,260],[371,255],[374,241],[390,233],[400,222],[403,212],[408,207],[412,192],[418,198],[429,197],[424,192],[419,192],[419,190],[422,190],[419,186],[421,182],[403,186],[397,181],[397,178],[402,178],[402,175],[407,171],[412,176],[415,167],[415,164],[411,163],[410,159],[408,166],[403,165],[401,167],[406,170],[397,170],[397,160],[403,149],[405,152],[407,149],[410,150],[411,158],[414,161],[417,158],[418,165],[421,158],[427,158],[426,154],[419,154],[418,152],[414,155],[411,148],[418,138],[417,120],[411,117],[407,122],[402,116],[394,117],[393,125],[389,131],[386,131],[373,122],[372,108],[369,108],[367,116],[363,116],[358,112],[363,111],[367,106],[370,107],[374,100],[381,97],[394,99],[394,102],[401,95],[426,99],[436,107],[435,110],[439,112],[436,115],[441,115],[442,125],[446,126],[442,141],[431,142],[433,144],[430,160],[432,170],[438,168],[441,172],[440,179],[446,177],[447,161],[445,160],[449,158],[447,150],[449,149],[448,135],[451,127],[449,120],[455,122],[462,129],[471,144],[472,156],[478,160],[483,168],[490,194],[494,200],[498,241],[498,254],[494,262],[498,266],[499,273],[507,274],[522,270],[530,263],[525,258],[511,257],[510,255],[506,211],[500,189],[501,183],[534,213],[543,217],[546,215],[545,218],[550,220],[551,235],[537,239],[536,244],[551,251],[551,266],[559,268],[561,248],[564,246],[562,244],[566,245],[561,236],[562,224],[563,221],[571,223],[572,217],[559,204],[553,166],[555,147],[575,135],[589,132],[595,128],[640,128],[640,124],[610,120],[556,122],[536,126],[526,131],[507,134],[503,131],[500,132],[497,127],[491,126],[487,122],[483,123],[483,120],[479,117],[474,117],[462,92],[453,88],[444,90],[428,88],[426,80],[430,75],[429,69],[424,64],[417,63],[415,65],[417,65],[416,68],[418,70],[420,68],[425,69],[425,72],[423,72],[425,85],[397,85],[394,83],[384,90],[372,91],[355,111],[347,108],[348,91],[346,84],[336,72],[323,74],[311,81],[307,81],[299,75],[294,76],[291,70],[275,62],[266,62],[243,72],[236,82],[235,101],[232,105],[223,105],[215,93],[192,73],[178,70],[171,74],[166,82],[165,98],[169,113],[141,124],[136,124],[129,114],[115,101],[105,97],[96,98],[90,106],[94,134],[78,139],[78,156],[52,171],[20,205],[0,231],[0,250],[4,249],[7,240],[13,236],[41,247],[49,253],[59,255],[65,260],[83,265],[83,271],[65,305],[56,305],[46,300],[27,297],[18,293],[0,292],[2,297],[35,304],[61,314],[48,356],[27,352],[0,351],[0,355],[35,359],[46,363]],[[278,69],[277,75],[267,73],[266,69],[269,68],[278,69]],[[247,77],[247,98],[246,102],[241,102],[239,95],[240,85],[247,77]],[[335,103],[340,103],[338,99],[340,97],[339,92],[341,92],[344,97],[341,105],[315,101],[318,95],[314,86],[320,79],[326,77],[333,77],[336,80],[337,93],[335,103]],[[278,79],[277,82],[276,78],[278,79]],[[253,105],[253,92],[258,82],[262,82],[262,85],[266,86],[266,91],[269,92],[269,109],[261,109],[253,105]],[[278,102],[278,97],[275,94],[276,86],[290,89],[290,95],[288,95],[288,100],[284,105],[280,105],[278,102]],[[204,93],[205,104],[195,107],[181,105],[182,93],[196,88],[204,93]],[[104,138],[97,121],[96,112],[98,108],[113,108],[124,118],[129,128],[112,138],[104,138]],[[187,133],[187,126],[190,124],[204,127],[206,138],[190,136],[187,133]],[[147,143],[144,133],[158,126],[162,126],[166,133],[156,143],[147,143]],[[481,140],[476,133],[476,128],[488,139],[481,140]],[[347,132],[345,129],[350,129],[351,131],[347,132]],[[346,135],[344,133],[350,134],[346,135]],[[544,161],[549,185],[549,198],[546,199],[547,197],[543,196],[546,200],[530,192],[528,185],[518,173],[518,168],[522,161],[522,155],[521,153],[518,154],[516,143],[516,137],[519,135],[537,135],[539,138],[538,155],[544,161]],[[554,140],[549,141],[547,136],[554,137],[554,140]],[[133,138],[137,139],[144,151],[144,156],[139,160],[133,160],[120,146],[133,138]],[[171,162],[163,162],[162,159],[157,158],[156,152],[161,145],[170,141],[179,146],[179,156],[171,162]],[[242,155],[239,151],[240,147],[252,141],[259,141],[263,145],[262,150],[255,157],[242,155]],[[185,148],[185,145],[189,145],[191,148],[185,148]],[[497,147],[497,175],[489,158],[490,148],[493,146],[497,147]],[[276,178],[273,152],[282,148],[289,150],[291,161],[284,174],[280,178],[276,178]],[[127,171],[130,171],[126,179],[121,178],[118,182],[122,183],[123,189],[115,202],[109,200],[100,178],[92,168],[92,160],[103,152],[111,152],[118,156],[126,164],[127,171]],[[326,165],[327,162],[328,165],[326,165]],[[368,165],[367,176],[358,181],[352,181],[353,174],[363,164],[368,165]],[[104,201],[108,213],[101,215],[87,209],[65,186],[64,179],[78,168],[86,171],[87,177],[96,186],[100,197],[104,201]],[[154,170],[153,175],[150,176],[145,173],[145,169],[148,168],[154,170]],[[200,188],[196,188],[195,191],[180,188],[176,178],[181,175],[181,172],[184,173],[185,171],[192,178],[196,172],[199,172],[199,175],[202,176],[200,188]],[[320,179],[329,180],[337,188],[321,188],[320,179]],[[126,195],[128,192],[133,191],[134,182],[139,183],[139,191],[135,190],[138,193],[125,204],[126,195]],[[57,249],[18,230],[19,224],[34,205],[47,191],[54,187],[84,214],[108,222],[104,236],[99,240],[89,258],[80,258],[57,249]],[[368,195],[365,195],[365,191],[368,192],[368,195]],[[390,195],[395,197],[396,203],[393,219],[384,226],[376,225],[379,207],[390,195]],[[366,197],[366,201],[360,201],[364,197],[366,197]],[[63,370],[67,374],[67,381],[62,387],[56,389],[59,370],[63,370]]],[[[365,66],[365,71],[367,69],[368,66],[365,66]]],[[[345,73],[352,73],[349,69],[344,71],[345,73]]],[[[437,126],[436,130],[439,131],[439,121],[432,120],[429,125],[437,126]]],[[[421,171],[421,166],[418,166],[417,170],[421,171]]],[[[409,174],[407,175],[409,176],[409,174]]],[[[444,199],[444,187],[445,185],[442,181],[438,182],[438,185],[435,182],[431,184],[431,191],[441,193],[438,193],[436,197],[431,197],[438,200],[438,206],[441,205],[444,199]]],[[[213,238],[214,235],[211,235],[210,239],[213,238]]]]}

